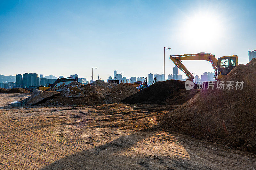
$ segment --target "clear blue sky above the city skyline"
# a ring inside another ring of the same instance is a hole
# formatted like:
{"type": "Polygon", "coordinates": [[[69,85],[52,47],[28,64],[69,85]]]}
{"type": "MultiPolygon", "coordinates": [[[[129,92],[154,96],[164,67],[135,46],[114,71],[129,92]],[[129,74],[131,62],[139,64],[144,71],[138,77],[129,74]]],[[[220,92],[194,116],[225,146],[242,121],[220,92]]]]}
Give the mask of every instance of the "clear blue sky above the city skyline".
{"type": "MultiPolygon", "coordinates": [[[[256,1],[0,1],[0,74],[172,74],[170,54],[256,49],[256,1]]],[[[213,71],[184,61],[191,73],[213,71]]],[[[181,71],[180,71],[181,73],[181,71]]],[[[96,77],[95,77],[96,78],[96,77]]]]}

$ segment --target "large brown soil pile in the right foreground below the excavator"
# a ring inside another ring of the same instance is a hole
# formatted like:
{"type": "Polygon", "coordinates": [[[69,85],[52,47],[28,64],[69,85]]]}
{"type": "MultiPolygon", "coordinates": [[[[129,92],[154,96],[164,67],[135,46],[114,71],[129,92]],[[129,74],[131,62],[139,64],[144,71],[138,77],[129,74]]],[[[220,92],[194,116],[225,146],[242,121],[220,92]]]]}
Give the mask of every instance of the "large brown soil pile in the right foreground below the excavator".
{"type": "MultiPolygon", "coordinates": [[[[218,82],[244,81],[243,89],[201,90],[163,119],[166,128],[240,150],[256,150],[256,59],[218,82]]],[[[239,83],[240,85],[240,83],[239,83]]]]}

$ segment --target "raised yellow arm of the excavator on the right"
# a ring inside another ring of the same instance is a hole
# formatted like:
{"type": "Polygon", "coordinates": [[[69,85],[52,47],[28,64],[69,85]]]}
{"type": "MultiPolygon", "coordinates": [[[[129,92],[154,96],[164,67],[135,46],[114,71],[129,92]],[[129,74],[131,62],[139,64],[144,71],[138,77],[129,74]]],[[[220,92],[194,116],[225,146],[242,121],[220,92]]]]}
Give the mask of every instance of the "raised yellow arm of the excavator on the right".
{"type": "Polygon", "coordinates": [[[185,73],[189,79],[193,80],[195,77],[188,71],[188,69],[182,64],[181,60],[206,60],[212,63],[213,69],[217,70],[218,60],[215,55],[210,53],[197,53],[197,54],[183,54],[183,55],[170,55],[172,62],[185,73]],[[175,57],[173,57],[175,56],[175,57]]]}

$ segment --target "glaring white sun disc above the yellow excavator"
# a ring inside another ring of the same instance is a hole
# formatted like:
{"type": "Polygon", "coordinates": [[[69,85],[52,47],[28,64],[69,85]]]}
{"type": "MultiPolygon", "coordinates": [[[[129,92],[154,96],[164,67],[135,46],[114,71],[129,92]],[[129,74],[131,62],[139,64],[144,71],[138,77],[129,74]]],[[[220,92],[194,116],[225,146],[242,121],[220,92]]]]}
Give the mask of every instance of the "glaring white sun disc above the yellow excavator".
{"type": "Polygon", "coordinates": [[[194,45],[212,44],[223,35],[222,18],[214,14],[196,13],[182,23],[181,37],[194,45]]]}

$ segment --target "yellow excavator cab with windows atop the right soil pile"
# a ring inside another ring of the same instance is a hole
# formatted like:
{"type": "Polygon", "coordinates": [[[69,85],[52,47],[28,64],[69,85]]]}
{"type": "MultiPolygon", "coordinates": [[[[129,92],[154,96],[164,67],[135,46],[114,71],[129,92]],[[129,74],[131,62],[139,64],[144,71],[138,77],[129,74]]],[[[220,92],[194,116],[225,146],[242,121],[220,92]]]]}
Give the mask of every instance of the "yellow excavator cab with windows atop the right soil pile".
{"type": "Polygon", "coordinates": [[[237,55],[224,56],[218,59],[215,79],[218,80],[227,75],[233,68],[238,65],[237,55]]]}

